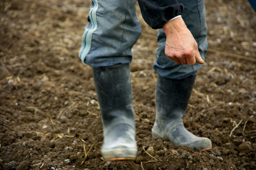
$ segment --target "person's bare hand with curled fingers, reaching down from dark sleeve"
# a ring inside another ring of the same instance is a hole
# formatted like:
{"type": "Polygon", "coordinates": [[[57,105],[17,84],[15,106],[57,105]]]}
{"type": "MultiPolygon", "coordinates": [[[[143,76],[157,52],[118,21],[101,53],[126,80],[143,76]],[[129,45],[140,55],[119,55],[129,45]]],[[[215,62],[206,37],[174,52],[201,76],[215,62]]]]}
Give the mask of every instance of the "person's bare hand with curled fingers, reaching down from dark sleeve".
{"type": "Polygon", "coordinates": [[[164,24],[163,31],[166,34],[164,52],[172,61],[188,65],[204,63],[197,43],[181,17],[164,24]]]}

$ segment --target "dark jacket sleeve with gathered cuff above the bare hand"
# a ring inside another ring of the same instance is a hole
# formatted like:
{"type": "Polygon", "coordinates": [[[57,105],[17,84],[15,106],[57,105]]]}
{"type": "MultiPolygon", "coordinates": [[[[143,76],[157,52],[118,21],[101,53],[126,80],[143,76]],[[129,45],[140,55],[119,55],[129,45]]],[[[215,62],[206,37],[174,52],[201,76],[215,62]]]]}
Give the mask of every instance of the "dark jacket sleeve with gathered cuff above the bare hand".
{"type": "Polygon", "coordinates": [[[182,15],[183,4],[177,0],[138,0],[145,22],[153,29],[162,28],[173,17],[182,15]]]}

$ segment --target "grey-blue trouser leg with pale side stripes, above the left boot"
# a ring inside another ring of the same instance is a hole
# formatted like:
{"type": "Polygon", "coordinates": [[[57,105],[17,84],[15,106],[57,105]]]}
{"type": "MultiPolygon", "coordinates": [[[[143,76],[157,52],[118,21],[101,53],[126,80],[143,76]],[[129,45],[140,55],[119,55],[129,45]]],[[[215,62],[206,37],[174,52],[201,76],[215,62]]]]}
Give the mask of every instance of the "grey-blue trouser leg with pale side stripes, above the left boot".
{"type": "Polygon", "coordinates": [[[93,67],[127,64],[141,34],[136,0],[92,0],[83,33],[80,59],[93,67]]]}

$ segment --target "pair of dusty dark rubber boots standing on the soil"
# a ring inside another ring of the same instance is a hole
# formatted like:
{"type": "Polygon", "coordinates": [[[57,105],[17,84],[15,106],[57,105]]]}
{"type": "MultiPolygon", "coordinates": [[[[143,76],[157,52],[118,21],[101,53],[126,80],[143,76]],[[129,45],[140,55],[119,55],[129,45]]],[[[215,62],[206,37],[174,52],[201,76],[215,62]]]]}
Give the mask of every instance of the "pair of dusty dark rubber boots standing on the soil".
{"type": "MultiPolygon", "coordinates": [[[[134,108],[129,64],[92,68],[100,105],[104,141],[101,149],[105,161],[133,160],[137,156],[134,108]]],[[[156,85],[156,120],[153,137],[168,139],[194,151],[208,150],[212,143],[184,128],[186,112],[196,75],[182,80],[158,75],[156,85]]]]}

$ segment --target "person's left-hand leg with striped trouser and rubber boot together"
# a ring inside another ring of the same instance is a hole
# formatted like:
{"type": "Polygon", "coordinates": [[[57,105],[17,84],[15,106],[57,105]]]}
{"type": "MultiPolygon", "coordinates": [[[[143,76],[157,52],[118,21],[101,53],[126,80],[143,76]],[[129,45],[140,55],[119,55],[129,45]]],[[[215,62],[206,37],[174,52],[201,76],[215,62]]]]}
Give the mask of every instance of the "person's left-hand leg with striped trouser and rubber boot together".
{"type": "Polygon", "coordinates": [[[106,161],[129,160],[137,155],[129,69],[131,48],[141,34],[135,3],[92,0],[79,52],[93,70],[103,123],[101,153],[106,161]]]}

